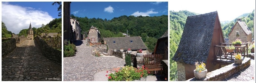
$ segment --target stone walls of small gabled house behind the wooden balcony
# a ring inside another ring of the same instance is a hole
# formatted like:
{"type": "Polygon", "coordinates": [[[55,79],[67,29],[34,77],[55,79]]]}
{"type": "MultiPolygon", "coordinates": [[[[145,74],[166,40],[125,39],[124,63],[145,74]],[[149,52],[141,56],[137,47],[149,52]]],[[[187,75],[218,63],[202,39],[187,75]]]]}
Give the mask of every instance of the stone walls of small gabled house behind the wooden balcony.
{"type": "Polygon", "coordinates": [[[230,32],[230,35],[228,36],[229,43],[232,43],[237,38],[241,39],[242,42],[252,42],[252,34],[249,34],[246,36],[246,34],[244,33],[244,30],[236,22],[234,29],[232,30],[232,32],[230,32]],[[239,36],[236,36],[236,32],[239,32],[239,36]]]}

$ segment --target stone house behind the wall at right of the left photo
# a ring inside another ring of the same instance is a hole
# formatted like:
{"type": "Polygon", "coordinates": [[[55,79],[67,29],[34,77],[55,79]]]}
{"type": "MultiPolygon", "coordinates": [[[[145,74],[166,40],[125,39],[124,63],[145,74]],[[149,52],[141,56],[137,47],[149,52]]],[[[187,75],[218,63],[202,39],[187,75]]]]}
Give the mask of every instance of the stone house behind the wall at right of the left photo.
{"type": "MultiPolygon", "coordinates": [[[[58,33],[49,33],[46,37],[44,37],[45,33],[42,33],[41,34],[41,38],[46,38],[46,43],[51,46],[51,47],[54,47],[55,48],[55,43],[54,43],[54,38],[55,36],[57,35],[58,33]]],[[[61,36],[60,38],[58,39],[58,43],[57,43],[57,47],[61,48],[62,47],[62,44],[61,44],[61,36]]]]}

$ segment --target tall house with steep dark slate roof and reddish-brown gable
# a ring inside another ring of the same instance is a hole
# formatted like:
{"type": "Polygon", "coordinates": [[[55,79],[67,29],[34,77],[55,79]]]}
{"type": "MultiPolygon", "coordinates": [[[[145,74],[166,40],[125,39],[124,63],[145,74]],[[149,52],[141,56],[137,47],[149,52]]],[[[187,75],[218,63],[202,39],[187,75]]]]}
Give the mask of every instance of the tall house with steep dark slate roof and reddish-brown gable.
{"type": "Polygon", "coordinates": [[[219,69],[221,65],[215,61],[218,50],[214,50],[214,46],[224,42],[217,11],[188,16],[180,44],[172,58],[177,62],[178,81],[194,77],[197,61],[204,62],[208,72],[219,69]]]}

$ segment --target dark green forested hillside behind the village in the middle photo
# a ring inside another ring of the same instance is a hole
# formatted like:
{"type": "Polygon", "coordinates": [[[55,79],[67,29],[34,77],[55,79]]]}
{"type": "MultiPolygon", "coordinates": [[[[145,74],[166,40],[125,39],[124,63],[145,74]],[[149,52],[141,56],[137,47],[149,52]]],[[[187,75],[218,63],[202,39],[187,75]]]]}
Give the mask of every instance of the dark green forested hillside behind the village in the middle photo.
{"type": "Polygon", "coordinates": [[[100,30],[101,39],[104,37],[124,37],[122,33],[130,36],[141,36],[142,40],[151,52],[154,50],[156,41],[164,32],[168,30],[168,16],[120,16],[111,20],[87,17],[71,17],[80,22],[81,33],[87,36],[91,26],[96,26],[100,30]]]}

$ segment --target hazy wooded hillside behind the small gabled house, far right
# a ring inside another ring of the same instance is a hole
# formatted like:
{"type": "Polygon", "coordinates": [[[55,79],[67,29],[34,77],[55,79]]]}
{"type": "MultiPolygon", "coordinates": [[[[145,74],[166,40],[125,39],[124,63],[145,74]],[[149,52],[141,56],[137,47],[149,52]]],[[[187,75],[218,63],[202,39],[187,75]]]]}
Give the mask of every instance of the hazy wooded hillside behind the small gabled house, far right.
{"type": "MultiPolygon", "coordinates": [[[[228,34],[230,33],[231,31],[231,28],[235,25],[236,23],[236,20],[238,18],[241,18],[242,21],[244,21],[246,23],[246,25],[248,26],[248,28],[253,32],[253,19],[254,19],[254,10],[251,12],[251,13],[245,13],[239,17],[237,17],[236,19],[228,22],[228,23],[221,23],[221,28],[222,28],[222,33],[223,33],[223,36],[224,38],[227,38],[228,37],[228,34]]],[[[254,34],[252,33],[252,36],[254,34]]]]}

